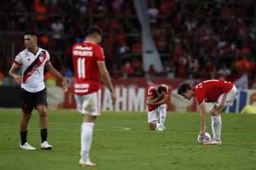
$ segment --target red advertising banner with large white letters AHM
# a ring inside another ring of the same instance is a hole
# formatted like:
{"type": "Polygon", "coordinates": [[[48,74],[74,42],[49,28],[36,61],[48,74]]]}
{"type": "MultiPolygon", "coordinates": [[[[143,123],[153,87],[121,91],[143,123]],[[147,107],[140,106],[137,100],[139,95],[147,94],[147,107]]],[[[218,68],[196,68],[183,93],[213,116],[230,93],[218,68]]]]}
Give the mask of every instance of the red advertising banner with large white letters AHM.
{"type": "MultiPolygon", "coordinates": [[[[105,86],[102,86],[102,110],[115,110],[115,111],[146,111],[146,88],[151,84],[166,84],[172,94],[166,103],[168,110],[177,110],[177,100],[182,103],[188,103],[183,101],[182,96],[173,95],[173,89],[176,89],[180,83],[184,82],[184,79],[120,79],[113,81],[115,93],[117,94],[116,105],[112,106],[110,93],[105,86]],[[171,100],[175,101],[174,103],[171,100]]],[[[189,80],[190,84],[195,84],[199,81],[189,80]]],[[[190,102],[189,105],[192,103],[190,102]]],[[[184,108],[184,106],[181,106],[184,108]]],[[[187,106],[185,110],[195,111],[195,106],[187,106]]],[[[76,108],[76,101],[74,100],[73,89],[70,88],[66,93],[62,108],[71,109],[76,108]]],[[[184,111],[185,111],[184,110],[184,111]]]]}

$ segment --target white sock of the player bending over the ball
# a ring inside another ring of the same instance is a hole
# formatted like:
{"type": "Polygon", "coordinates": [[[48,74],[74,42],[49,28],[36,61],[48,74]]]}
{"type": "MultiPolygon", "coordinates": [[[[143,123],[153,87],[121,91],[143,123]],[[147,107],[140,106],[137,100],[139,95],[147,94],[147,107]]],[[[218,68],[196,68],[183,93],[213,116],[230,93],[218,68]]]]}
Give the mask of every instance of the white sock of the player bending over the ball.
{"type": "Polygon", "coordinates": [[[212,134],[213,139],[216,141],[221,141],[221,116],[211,116],[212,118],[212,134]]]}

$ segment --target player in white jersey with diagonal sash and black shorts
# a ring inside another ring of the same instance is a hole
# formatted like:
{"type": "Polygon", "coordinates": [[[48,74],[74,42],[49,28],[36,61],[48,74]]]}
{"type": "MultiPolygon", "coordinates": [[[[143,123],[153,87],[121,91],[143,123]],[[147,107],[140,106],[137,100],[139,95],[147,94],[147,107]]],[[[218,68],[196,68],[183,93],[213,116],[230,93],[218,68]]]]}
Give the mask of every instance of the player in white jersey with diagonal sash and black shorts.
{"type": "Polygon", "coordinates": [[[35,150],[35,147],[26,142],[28,133],[28,122],[35,108],[39,115],[41,132],[41,149],[52,149],[47,142],[47,89],[44,84],[44,67],[50,74],[62,80],[64,91],[67,91],[67,82],[50,63],[50,55],[47,50],[37,46],[37,33],[28,31],[25,33],[24,42],[26,49],[20,52],[9,71],[17,84],[21,84],[20,99],[23,117],[20,122],[20,148],[35,150]],[[22,76],[16,74],[21,69],[22,76]]]}

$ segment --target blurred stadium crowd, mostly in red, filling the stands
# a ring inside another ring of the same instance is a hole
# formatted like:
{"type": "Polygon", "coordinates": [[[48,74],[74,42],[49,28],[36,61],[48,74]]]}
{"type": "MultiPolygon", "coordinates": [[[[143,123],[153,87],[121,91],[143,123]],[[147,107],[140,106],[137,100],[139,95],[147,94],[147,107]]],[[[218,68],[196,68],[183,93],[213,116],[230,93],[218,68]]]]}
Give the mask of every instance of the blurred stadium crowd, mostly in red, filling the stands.
{"type": "MultiPolygon", "coordinates": [[[[163,72],[143,69],[141,25],[133,1],[34,0],[1,1],[1,36],[38,31],[39,47],[50,52],[54,67],[73,76],[71,48],[89,25],[103,29],[102,46],[113,79],[120,77],[183,77],[217,79],[246,73],[254,79],[256,2],[148,0],[151,35],[160,52],[163,72]],[[8,11],[6,11],[8,9],[8,11]],[[8,24],[4,24],[8,23],[8,24]]],[[[22,40],[22,39],[21,39],[22,40]]],[[[24,48],[23,42],[19,43],[24,48]]],[[[12,60],[2,56],[7,75],[12,60]]]]}

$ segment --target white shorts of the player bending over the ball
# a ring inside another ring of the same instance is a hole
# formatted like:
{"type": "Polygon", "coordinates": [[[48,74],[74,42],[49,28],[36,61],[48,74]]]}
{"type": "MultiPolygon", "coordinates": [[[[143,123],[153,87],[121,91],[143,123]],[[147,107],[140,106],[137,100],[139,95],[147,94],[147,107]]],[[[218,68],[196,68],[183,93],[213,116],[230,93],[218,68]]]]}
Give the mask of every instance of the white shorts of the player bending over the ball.
{"type": "Polygon", "coordinates": [[[237,93],[236,86],[234,85],[233,88],[228,93],[223,93],[219,96],[218,101],[214,104],[215,106],[233,106],[233,102],[237,93]]]}

